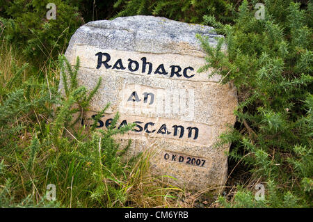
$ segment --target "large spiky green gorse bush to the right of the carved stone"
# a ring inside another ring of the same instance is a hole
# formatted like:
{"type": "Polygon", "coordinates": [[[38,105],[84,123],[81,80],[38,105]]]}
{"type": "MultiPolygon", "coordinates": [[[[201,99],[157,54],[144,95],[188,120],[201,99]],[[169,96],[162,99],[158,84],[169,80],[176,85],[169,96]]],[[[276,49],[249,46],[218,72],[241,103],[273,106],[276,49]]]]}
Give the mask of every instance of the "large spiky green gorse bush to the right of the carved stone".
{"type": "Polygon", "coordinates": [[[256,3],[243,1],[233,25],[204,16],[225,35],[216,49],[198,36],[207,52],[199,72],[213,67],[239,93],[234,113],[241,127],[223,134],[220,143],[232,143],[230,158],[243,161],[266,187],[264,201],[255,203],[241,190],[225,205],[312,207],[313,5],[264,1],[265,19],[256,19],[256,3]]]}

